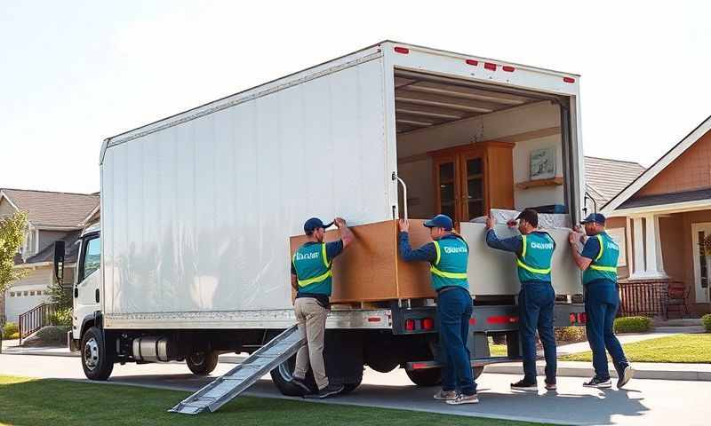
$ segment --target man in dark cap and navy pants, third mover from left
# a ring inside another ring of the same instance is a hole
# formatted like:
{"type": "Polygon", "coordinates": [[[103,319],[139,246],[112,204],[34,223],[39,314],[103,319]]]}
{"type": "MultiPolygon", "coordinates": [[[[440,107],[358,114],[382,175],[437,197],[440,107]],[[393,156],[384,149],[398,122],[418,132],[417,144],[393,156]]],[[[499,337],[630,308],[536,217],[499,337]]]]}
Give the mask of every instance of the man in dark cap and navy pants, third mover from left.
{"type": "Polygon", "coordinates": [[[499,240],[493,230],[494,219],[486,219],[486,243],[491,248],[506,250],[516,255],[516,269],[521,290],[518,294],[519,325],[523,351],[523,380],[511,383],[511,389],[537,391],[536,330],[546,355],[546,389],[555,390],[555,334],[553,307],[555,291],[551,285],[551,259],[555,241],[548,233],[538,231],[539,215],[534,209],[524,209],[515,220],[521,235],[499,240]]]}

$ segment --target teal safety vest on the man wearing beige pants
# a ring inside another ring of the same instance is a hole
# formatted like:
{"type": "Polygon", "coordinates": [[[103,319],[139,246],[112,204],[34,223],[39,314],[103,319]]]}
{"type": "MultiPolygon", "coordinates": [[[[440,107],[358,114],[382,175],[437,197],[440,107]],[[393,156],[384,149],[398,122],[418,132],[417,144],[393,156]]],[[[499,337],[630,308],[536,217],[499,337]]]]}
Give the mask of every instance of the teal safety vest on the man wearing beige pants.
{"type": "Polygon", "coordinates": [[[332,262],[326,256],[326,244],[304,244],[292,257],[300,293],[331,296],[332,262]]]}

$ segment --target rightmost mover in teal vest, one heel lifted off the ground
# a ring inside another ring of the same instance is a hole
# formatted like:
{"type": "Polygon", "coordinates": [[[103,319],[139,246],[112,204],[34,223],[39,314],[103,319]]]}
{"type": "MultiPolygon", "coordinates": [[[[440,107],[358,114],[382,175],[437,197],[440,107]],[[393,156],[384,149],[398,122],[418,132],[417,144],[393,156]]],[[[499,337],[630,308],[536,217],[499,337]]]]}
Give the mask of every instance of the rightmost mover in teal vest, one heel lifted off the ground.
{"type": "Polygon", "coordinates": [[[605,233],[605,217],[600,213],[591,213],[580,224],[585,226],[587,241],[583,235],[572,232],[569,242],[573,260],[583,271],[587,342],[590,343],[590,349],[593,351],[593,367],[595,367],[595,377],[583,383],[583,386],[590,388],[612,386],[605,354],[607,348],[618,373],[617,387],[621,388],[632,378],[633,370],[612,331],[619,307],[617,288],[619,247],[610,235],[605,233]],[[578,253],[578,241],[585,243],[582,253],[578,253]]]}

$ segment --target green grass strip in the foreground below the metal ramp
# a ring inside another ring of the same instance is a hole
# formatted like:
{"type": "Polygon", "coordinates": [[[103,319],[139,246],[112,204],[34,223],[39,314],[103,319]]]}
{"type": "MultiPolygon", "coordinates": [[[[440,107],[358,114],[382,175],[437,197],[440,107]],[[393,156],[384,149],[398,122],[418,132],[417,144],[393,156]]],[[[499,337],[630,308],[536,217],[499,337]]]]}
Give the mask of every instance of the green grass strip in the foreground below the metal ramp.
{"type": "Polygon", "coordinates": [[[34,380],[0,375],[0,424],[81,426],[97,424],[211,426],[259,424],[359,425],[532,425],[445,414],[418,413],[362,406],[315,404],[302,400],[242,397],[214,414],[189,416],[166,410],[188,396],[178,390],[156,390],[100,383],[34,380]]]}

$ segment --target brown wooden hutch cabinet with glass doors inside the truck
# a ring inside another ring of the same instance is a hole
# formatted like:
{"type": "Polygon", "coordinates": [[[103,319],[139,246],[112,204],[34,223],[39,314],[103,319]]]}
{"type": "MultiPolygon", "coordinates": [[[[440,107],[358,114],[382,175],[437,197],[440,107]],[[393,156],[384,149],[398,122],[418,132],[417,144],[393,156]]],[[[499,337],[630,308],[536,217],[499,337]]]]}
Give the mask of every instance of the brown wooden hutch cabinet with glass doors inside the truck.
{"type": "Polygon", "coordinates": [[[455,223],[514,209],[515,144],[479,142],[432,151],[435,212],[455,223]]]}

